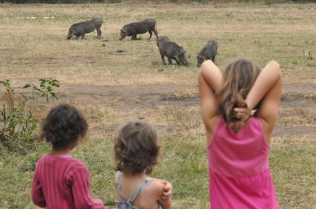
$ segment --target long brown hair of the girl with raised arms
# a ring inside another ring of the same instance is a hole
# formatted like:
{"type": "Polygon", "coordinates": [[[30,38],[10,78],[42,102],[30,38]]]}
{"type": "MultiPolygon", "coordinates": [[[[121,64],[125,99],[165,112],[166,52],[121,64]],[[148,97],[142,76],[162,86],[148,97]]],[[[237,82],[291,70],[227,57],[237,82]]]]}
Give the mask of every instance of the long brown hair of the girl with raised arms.
{"type": "Polygon", "coordinates": [[[245,108],[245,99],[261,69],[244,59],[230,63],[223,72],[223,88],[218,92],[218,110],[226,123],[239,121],[234,108],[245,108]]]}

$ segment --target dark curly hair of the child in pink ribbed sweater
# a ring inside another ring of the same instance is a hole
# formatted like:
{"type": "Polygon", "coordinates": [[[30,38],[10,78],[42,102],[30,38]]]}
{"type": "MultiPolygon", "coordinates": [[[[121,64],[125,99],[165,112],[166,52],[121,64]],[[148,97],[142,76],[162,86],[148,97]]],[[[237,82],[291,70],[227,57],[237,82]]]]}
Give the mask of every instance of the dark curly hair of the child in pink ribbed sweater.
{"type": "Polygon", "coordinates": [[[52,143],[54,149],[65,149],[86,136],[88,123],[77,108],[59,104],[47,114],[41,127],[41,139],[52,143]]]}

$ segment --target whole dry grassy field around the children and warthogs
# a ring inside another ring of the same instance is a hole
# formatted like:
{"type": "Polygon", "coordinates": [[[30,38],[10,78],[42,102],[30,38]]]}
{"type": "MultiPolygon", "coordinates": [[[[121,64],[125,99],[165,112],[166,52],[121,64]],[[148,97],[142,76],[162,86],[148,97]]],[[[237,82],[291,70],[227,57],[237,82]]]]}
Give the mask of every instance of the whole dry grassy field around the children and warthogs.
{"type": "MultiPolygon", "coordinates": [[[[163,154],[153,176],[174,186],[172,208],[209,208],[205,134],[197,93],[196,53],[218,41],[216,64],[235,58],[283,70],[280,119],[270,164],[281,208],[316,206],[316,5],[263,3],[85,5],[0,4],[0,79],[25,83],[54,77],[58,101],[72,103],[89,119],[89,141],[73,156],[91,172],[92,192],[114,208],[112,138],[131,119],[153,123],[163,154]],[[27,19],[34,16],[36,19],[27,19]],[[44,19],[54,16],[54,19],[44,19]],[[66,40],[69,26],[100,16],[102,39],[66,40]],[[16,19],[20,17],[20,19],[16,19]],[[22,19],[25,17],[25,19],[22,19]],[[163,66],[155,36],[118,40],[126,23],[153,18],[160,35],[187,51],[190,66],[163,66]]],[[[3,88],[0,89],[3,93],[3,88]]],[[[3,101],[1,101],[3,102],[3,101]]],[[[0,147],[0,208],[36,208],[30,200],[34,163],[47,145],[26,154],[0,147]]]]}

